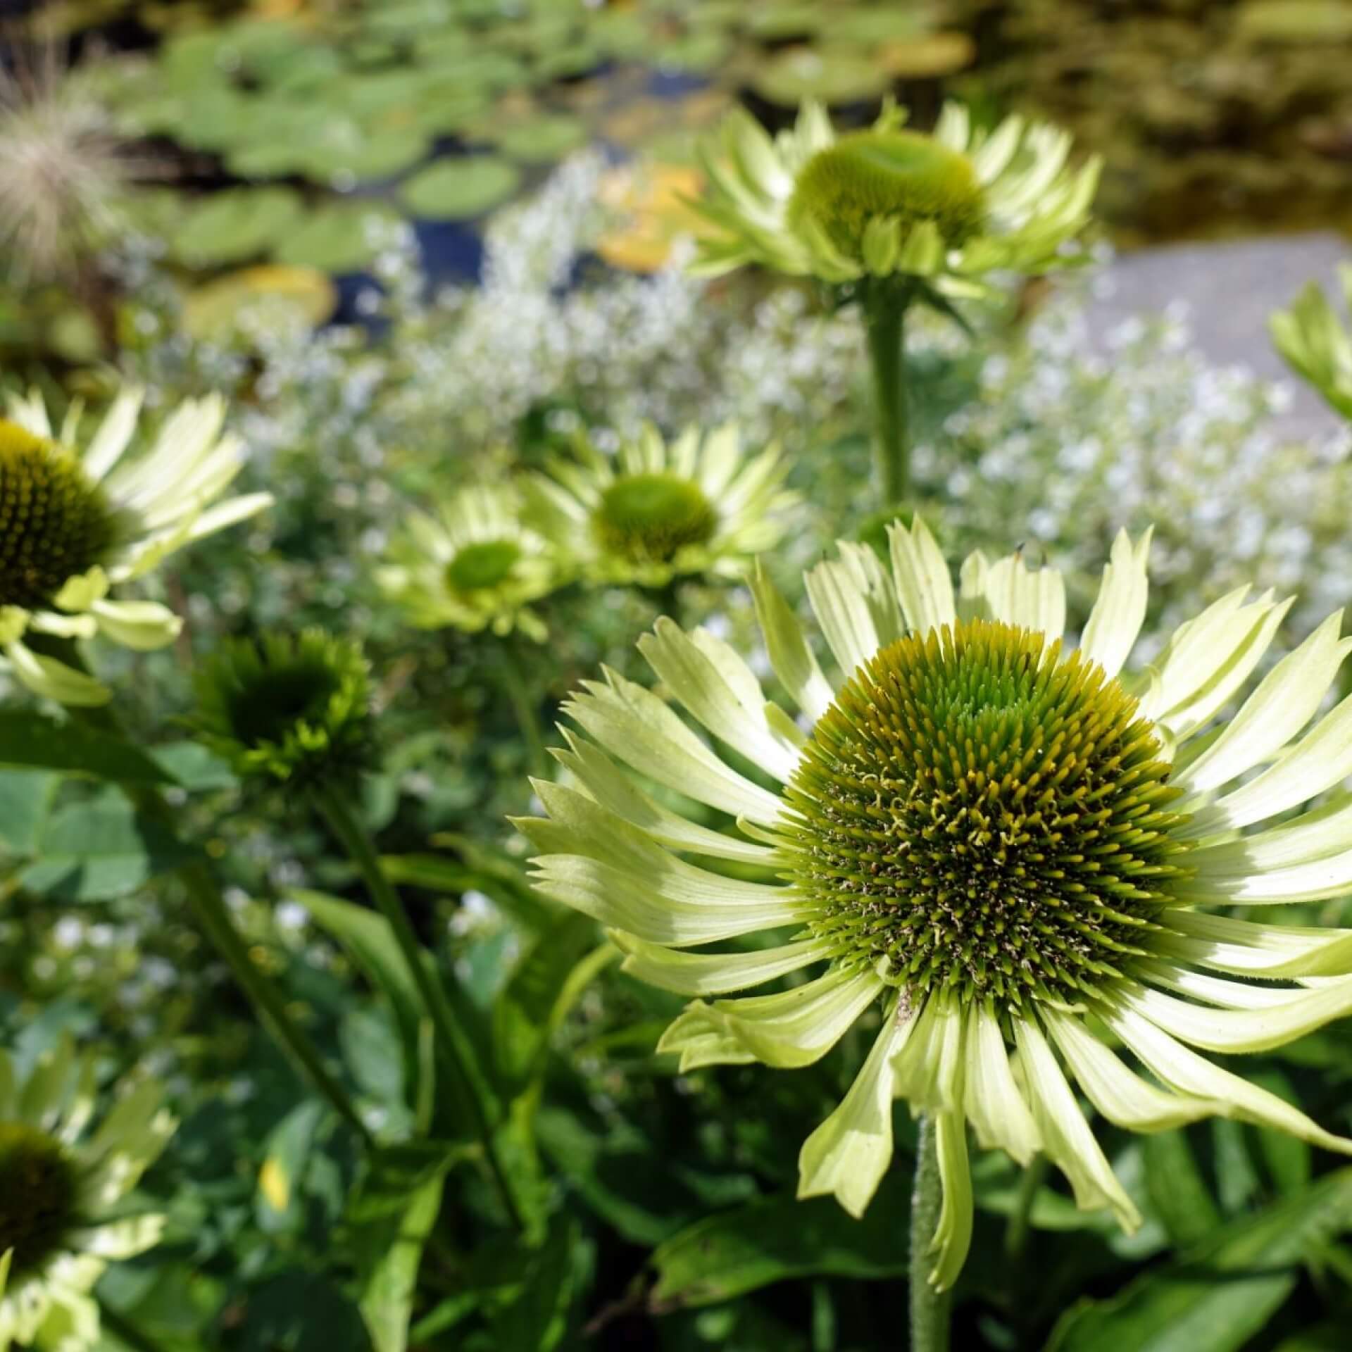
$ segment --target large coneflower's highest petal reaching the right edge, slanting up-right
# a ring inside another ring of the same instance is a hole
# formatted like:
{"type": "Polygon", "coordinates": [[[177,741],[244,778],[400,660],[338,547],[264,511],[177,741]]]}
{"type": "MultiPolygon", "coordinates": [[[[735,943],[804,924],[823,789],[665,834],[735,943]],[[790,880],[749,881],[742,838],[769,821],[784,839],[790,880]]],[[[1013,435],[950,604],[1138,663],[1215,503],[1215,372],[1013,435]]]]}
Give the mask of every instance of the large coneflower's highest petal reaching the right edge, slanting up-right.
{"type": "Polygon", "coordinates": [[[1330,615],[1282,658],[1244,702],[1221,737],[1178,777],[1205,794],[1275,756],[1318,713],[1352,638],[1338,638],[1343,612],[1330,615]]]}

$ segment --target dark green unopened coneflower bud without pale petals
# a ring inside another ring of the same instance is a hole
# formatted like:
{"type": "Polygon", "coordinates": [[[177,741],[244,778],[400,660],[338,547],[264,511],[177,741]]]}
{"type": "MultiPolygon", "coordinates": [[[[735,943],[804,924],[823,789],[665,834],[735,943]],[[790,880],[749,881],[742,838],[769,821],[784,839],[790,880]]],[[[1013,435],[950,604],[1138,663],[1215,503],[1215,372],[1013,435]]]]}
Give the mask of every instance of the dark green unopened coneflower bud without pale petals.
{"type": "Polygon", "coordinates": [[[369,758],[370,672],[350,639],[322,629],[227,639],[196,690],[197,734],[242,777],[304,788],[369,758]]]}

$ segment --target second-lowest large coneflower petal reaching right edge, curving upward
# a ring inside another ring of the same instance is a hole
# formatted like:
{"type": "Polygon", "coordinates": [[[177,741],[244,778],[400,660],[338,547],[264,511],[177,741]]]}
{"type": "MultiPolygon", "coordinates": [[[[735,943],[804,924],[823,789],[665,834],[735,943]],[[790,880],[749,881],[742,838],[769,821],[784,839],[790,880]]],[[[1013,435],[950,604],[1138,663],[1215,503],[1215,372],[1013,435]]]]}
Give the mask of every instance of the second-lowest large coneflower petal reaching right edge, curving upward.
{"type": "MultiPolygon", "coordinates": [[[[1238,1003],[1244,988],[1228,984],[1236,987],[1238,1003]]],[[[1146,987],[1124,987],[1117,999],[1156,1028],[1209,1052],[1265,1052],[1352,1013],[1352,977],[1275,994],[1288,998],[1263,1009],[1207,1009],[1146,987]]]]}

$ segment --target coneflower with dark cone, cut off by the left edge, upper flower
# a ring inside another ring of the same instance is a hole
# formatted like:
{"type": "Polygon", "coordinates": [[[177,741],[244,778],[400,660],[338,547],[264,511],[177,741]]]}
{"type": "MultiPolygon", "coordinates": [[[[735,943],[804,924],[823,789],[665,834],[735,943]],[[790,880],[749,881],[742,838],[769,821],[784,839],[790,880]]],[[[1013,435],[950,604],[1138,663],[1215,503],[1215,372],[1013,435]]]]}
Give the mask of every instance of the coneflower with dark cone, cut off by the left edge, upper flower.
{"type": "Polygon", "coordinates": [[[110,591],[272,502],[216,502],[245,461],[241,442],[220,434],[216,396],[181,404],[128,458],[141,399],[123,391],[82,452],[77,406],[57,435],[37,393],[11,399],[0,418],[0,654],[28,690],[64,704],[101,704],[111,692],[26,635],[97,634],[134,649],[173,642],[183,623],[173,611],[110,591]]]}

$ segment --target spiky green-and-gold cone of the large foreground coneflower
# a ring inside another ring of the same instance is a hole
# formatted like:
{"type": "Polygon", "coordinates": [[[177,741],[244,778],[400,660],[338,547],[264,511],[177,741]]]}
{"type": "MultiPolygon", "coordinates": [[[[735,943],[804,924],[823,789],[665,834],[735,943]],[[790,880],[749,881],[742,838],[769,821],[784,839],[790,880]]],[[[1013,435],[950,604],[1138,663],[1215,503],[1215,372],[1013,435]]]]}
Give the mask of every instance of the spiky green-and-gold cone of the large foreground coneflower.
{"type": "Polygon", "coordinates": [[[1101,667],[984,619],[882,649],[787,790],[794,875],[914,992],[999,1009],[1101,990],[1144,952],[1184,846],[1148,719],[1101,667]]]}

